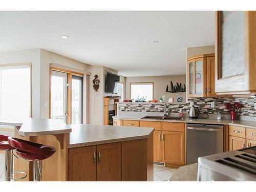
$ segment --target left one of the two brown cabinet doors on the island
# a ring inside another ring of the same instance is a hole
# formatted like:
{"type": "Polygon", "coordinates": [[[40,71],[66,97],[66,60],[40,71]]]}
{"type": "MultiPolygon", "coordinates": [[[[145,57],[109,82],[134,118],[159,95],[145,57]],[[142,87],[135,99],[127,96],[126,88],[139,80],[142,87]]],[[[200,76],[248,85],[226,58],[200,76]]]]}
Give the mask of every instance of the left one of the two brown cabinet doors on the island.
{"type": "Polygon", "coordinates": [[[96,181],[96,145],[69,149],[69,181],[96,181]]]}

